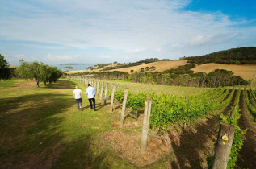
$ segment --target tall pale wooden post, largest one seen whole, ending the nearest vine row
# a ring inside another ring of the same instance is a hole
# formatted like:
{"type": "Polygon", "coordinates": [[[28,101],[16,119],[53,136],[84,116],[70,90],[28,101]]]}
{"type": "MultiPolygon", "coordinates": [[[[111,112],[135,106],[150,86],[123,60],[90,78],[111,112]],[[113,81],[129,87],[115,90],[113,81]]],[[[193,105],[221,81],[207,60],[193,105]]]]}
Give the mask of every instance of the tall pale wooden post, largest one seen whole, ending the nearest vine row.
{"type": "Polygon", "coordinates": [[[152,104],[152,98],[147,97],[145,100],[143,126],[142,126],[142,134],[141,134],[141,152],[145,152],[147,150],[151,104],[152,104]]]}

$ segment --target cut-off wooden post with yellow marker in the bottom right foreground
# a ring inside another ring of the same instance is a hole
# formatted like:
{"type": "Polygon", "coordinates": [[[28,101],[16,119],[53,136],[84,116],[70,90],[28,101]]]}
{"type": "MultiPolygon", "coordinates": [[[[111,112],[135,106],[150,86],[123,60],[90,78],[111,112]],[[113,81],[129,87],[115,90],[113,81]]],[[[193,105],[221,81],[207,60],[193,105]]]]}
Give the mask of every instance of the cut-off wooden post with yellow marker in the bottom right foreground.
{"type": "Polygon", "coordinates": [[[234,133],[234,126],[220,123],[212,169],[225,169],[227,167],[234,133]]]}

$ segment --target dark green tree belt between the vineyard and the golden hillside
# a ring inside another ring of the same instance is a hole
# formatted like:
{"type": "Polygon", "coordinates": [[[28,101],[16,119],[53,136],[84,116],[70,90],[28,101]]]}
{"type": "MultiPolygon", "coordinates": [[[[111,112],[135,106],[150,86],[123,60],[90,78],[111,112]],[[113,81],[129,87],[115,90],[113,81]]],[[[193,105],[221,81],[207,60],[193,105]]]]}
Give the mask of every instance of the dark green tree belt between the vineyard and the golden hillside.
{"type": "Polygon", "coordinates": [[[174,85],[187,87],[219,87],[233,85],[248,85],[249,82],[241,76],[233,76],[233,72],[224,69],[216,69],[208,74],[197,72],[187,73],[166,73],[166,72],[135,72],[130,75],[132,82],[149,83],[157,85],[174,85]]]}

